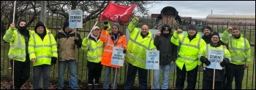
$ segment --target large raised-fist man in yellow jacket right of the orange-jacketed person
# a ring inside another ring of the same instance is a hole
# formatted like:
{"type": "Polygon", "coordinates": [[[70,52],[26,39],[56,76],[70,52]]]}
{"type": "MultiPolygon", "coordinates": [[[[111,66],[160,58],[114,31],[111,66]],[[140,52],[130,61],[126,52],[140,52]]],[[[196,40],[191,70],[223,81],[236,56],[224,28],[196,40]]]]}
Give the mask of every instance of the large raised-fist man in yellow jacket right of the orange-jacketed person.
{"type": "Polygon", "coordinates": [[[141,30],[135,28],[138,24],[138,17],[134,17],[128,25],[129,41],[128,52],[126,54],[127,62],[129,62],[127,71],[127,80],[124,89],[131,89],[135,83],[135,75],[138,70],[139,89],[147,89],[148,70],[146,70],[146,50],[157,50],[154,46],[152,33],[148,30],[148,25],[143,25],[141,30]]]}

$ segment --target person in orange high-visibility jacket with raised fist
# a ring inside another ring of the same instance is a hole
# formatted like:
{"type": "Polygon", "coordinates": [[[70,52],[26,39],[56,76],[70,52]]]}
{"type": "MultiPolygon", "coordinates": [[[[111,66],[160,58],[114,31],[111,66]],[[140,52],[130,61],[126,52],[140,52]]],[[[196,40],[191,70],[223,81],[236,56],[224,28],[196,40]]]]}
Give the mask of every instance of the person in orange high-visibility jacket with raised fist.
{"type": "Polygon", "coordinates": [[[102,54],[102,62],[101,64],[105,66],[105,76],[104,76],[104,81],[103,81],[103,89],[109,89],[109,78],[110,78],[110,73],[111,69],[113,69],[113,75],[116,75],[116,81],[115,81],[115,87],[114,86],[114,80],[111,81],[111,89],[117,89],[117,84],[118,84],[118,71],[121,68],[121,66],[118,65],[111,65],[111,58],[112,58],[112,52],[113,52],[113,47],[121,47],[124,48],[124,54],[127,52],[127,38],[124,35],[124,33],[121,33],[119,31],[120,25],[119,23],[113,23],[111,27],[111,32],[108,33],[107,30],[108,26],[105,26],[102,30],[102,35],[99,36],[99,39],[103,41],[105,44],[103,54],[102,54]]]}

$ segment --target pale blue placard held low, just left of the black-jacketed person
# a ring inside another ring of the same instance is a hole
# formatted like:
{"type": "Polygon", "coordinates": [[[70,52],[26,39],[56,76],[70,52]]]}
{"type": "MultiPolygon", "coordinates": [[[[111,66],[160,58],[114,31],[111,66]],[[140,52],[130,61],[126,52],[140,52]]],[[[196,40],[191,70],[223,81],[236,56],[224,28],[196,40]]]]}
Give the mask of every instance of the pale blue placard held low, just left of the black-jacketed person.
{"type": "Polygon", "coordinates": [[[159,70],[159,51],[146,51],[146,69],[159,70]]]}

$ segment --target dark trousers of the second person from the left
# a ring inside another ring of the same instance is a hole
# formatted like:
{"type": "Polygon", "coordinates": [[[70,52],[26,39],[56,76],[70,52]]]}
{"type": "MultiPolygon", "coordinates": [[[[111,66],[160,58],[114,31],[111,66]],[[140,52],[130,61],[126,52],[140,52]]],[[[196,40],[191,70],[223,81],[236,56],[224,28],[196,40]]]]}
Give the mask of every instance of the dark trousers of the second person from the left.
{"type": "Polygon", "coordinates": [[[50,65],[37,65],[33,67],[33,89],[40,89],[39,79],[42,75],[42,89],[49,89],[50,65]]]}

